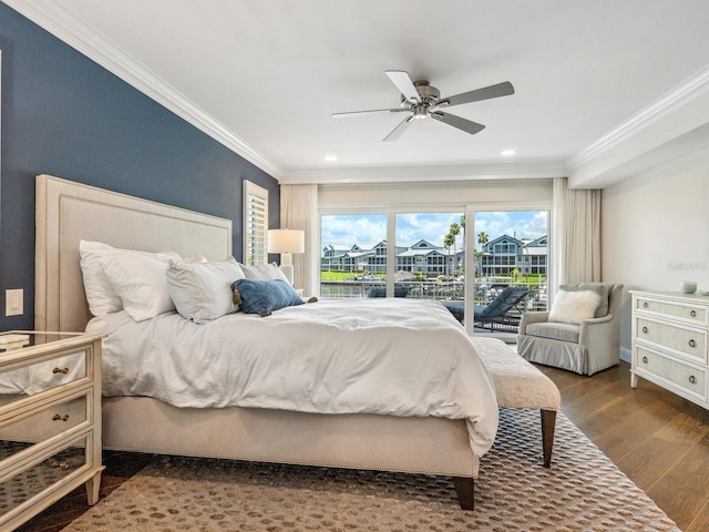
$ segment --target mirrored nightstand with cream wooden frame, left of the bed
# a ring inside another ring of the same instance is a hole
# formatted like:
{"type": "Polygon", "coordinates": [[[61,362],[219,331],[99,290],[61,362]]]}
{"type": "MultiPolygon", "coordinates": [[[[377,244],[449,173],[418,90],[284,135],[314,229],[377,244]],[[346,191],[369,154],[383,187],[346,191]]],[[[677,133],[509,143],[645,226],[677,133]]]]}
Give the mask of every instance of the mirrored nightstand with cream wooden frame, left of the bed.
{"type": "Polygon", "coordinates": [[[0,530],[101,483],[101,335],[0,334],[0,530]]]}

